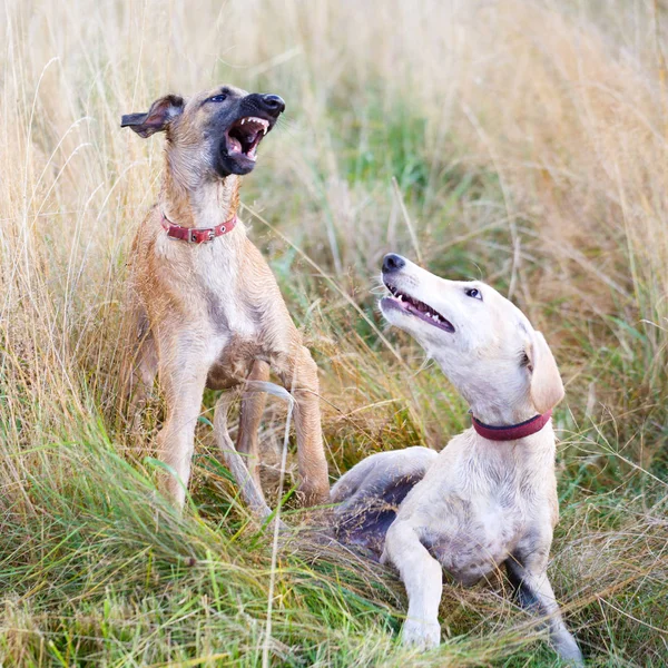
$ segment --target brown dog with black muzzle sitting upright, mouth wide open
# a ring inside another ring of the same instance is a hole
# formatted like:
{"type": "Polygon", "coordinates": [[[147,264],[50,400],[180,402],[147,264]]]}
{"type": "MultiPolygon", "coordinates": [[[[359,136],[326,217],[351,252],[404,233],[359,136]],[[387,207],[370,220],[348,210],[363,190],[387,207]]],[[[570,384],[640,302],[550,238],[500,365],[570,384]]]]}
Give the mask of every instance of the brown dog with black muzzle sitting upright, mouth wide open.
{"type": "Polygon", "coordinates": [[[236,216],[239,176],[253,169],[257,145],[284,109],[278,96],[224,86],[187,100],[168,95],[148,112],[121,120],[141,137],[167,136],[159,199],[132,245],[129,322],[136,354],[127,379],[137,411],[159,376],[167,406],[159,456],[170,470],[166,491],[179,507],[205,387],[246,386],[238,452],[225,428],[225,393],[216,406],[217,439],[246,503],[259,515],[269,513],[257,474],[266,395],[246,383],[268,381],[269,369],[295,400],[303,501],[328,499],[317,369],[236,216]]]}

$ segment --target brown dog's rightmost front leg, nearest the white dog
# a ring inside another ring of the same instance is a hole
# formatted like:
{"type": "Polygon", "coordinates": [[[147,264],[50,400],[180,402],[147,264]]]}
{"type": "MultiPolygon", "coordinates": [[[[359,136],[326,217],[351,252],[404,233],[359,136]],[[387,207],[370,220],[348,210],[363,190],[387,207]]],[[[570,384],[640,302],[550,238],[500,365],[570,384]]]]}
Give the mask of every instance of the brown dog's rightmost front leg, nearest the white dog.
{"type": "Polygon", "coordinates": [[[297,351],[293,371],[284,382],[295,397],[299,492],[305,505],[317,505],[330,500],[330,479],[321,429],[317,366],[304,346],[297,351]]]}

